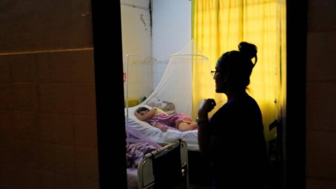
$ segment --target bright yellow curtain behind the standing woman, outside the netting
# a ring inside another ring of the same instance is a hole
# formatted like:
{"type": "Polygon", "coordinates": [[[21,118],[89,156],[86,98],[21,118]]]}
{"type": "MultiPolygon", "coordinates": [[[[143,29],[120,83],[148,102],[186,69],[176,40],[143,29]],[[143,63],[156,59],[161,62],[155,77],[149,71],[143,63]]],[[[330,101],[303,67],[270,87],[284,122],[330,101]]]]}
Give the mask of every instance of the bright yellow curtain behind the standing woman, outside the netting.
{"type": "MultiPolygon", "coordinates": [[[[275,101],[280,91],[276,72],[280,69],[280,52],[284,50],[280,46],[280,37],[285,39],[283,32],[279,32],[279,18],[285,14],[279,11],[280,8],[285,7],[279,6],[277,0],[192,1],[192,37],[203,54],[209,57],[212,69],[223,53],[238,50],[241,41],[258,47],[258,63],[252,72],[248,93],[261,108],[266,140],[275,135],[275,131],[268,132],[268,126],[277,117],[275,101]]],[[[221,102],[217,109],[226,102],[223,94],[216,94],[215,100],[221,102]]]]}

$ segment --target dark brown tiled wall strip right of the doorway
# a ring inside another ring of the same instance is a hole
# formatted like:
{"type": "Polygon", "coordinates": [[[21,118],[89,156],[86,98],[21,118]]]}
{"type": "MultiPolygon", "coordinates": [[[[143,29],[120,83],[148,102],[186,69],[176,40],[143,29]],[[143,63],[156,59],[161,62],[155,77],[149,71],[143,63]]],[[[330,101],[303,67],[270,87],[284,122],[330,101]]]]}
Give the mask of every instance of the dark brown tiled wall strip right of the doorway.
{"type": "Polygon", "coordinates": [[[308,1],[307,189],[336,189],[336,3],[308,1]]]}

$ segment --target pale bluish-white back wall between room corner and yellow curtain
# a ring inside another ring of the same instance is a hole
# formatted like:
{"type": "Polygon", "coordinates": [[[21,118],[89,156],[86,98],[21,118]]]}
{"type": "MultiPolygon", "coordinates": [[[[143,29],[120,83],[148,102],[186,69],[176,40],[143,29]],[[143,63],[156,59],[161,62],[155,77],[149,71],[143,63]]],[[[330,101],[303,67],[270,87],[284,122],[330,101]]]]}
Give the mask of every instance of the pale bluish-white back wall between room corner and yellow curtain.
{"type": "Polygon", "coordinates": [[[179,52],[191,40],[192,6],[189,0],[153,1],[151,30],[155,88],[165,73],[170,55],[179,52]]]}

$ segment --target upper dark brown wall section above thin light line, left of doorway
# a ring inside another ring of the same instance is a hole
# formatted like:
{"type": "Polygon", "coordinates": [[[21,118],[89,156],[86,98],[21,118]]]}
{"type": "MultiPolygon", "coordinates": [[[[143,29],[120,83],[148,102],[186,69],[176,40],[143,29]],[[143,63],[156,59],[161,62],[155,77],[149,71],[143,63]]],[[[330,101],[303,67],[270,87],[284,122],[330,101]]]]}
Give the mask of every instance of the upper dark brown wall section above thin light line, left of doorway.
{"type": "Polygon", "coordinates": [[[93,47],[90,0],[3,0],[2,7],[0,53],[93,47]]]}

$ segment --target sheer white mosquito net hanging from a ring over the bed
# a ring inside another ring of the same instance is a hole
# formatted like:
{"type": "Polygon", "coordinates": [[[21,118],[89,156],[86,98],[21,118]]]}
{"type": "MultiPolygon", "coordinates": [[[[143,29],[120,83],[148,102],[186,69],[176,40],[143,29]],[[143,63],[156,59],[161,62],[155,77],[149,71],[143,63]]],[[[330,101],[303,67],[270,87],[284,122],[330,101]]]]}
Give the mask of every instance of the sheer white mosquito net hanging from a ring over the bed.
{"type": "Polygon", "coordinates": [[[154,99],[172,102],[177,113],[185,113],[195,119],[198,104],[205,98],[213,98],[214,91],[208,58],[191,40],[170,56],[161,81],[141,104],[149,104],[154,99]]]}

